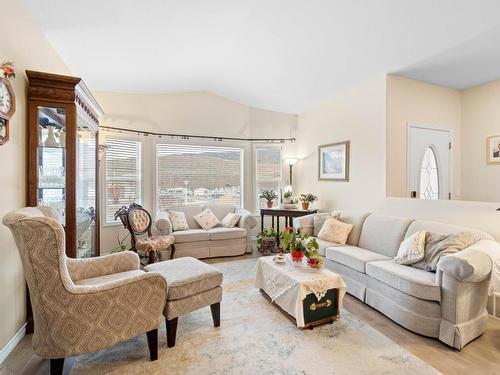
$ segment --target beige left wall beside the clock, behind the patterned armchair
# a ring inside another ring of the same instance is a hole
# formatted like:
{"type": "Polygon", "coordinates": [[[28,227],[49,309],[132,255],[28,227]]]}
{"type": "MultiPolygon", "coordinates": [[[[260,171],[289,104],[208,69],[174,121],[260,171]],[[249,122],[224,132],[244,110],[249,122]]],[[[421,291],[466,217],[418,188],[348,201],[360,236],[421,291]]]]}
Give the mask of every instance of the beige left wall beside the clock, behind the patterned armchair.
{"type": "MultiPolygon", "coordinates": [[[[26,204],[26,77],[25,69],[69,73],[36,28],[21,1],[0,1],[0,61],[17,68],[14,90],[17,110],[10,122],[10,141],[0,146],[0,217],[26,204]]],[[[0,349],[25,321],[25,282],[22,265],[9,230],[0,225],[0,349]]]]}

